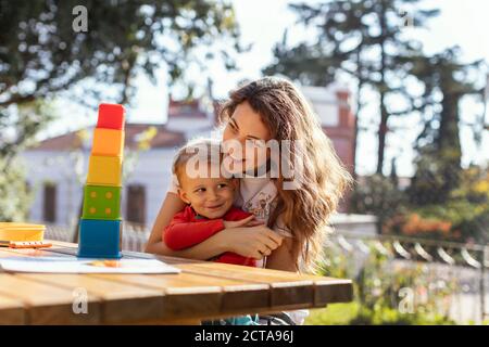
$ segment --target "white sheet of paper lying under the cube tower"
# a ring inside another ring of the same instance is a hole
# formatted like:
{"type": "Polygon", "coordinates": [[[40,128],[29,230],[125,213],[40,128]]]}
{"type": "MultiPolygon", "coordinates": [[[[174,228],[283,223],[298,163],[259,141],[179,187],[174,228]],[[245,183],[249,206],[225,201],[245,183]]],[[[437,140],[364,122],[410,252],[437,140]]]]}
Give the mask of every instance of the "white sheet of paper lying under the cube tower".
{"type": "Polygon", "coordinates": [[[120,259],[117,267],[109,267],[104,259],[30,258],[0,259],[4,271],[48,273],[179,273],[180,269],[156,259],[120,259]]]}

